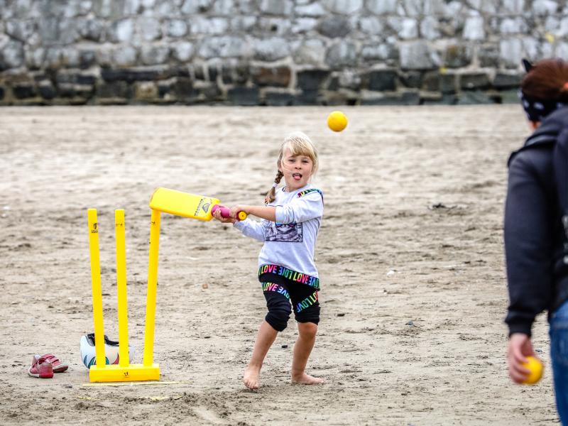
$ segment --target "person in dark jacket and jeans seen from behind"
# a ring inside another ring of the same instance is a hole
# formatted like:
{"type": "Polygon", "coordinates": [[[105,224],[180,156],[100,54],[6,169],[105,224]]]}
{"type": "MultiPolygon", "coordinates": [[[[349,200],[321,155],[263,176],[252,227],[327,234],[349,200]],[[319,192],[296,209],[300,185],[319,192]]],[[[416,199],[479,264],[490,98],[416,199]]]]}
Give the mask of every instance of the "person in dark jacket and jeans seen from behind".
{"type": "Polygon", "coordinates": [[[559,196],[568,190],[568,167],[555,158],[561,141],[568,146],[568,62],[523,62],[520,98],[534,133],[509,159],[504,226],[509,376],[515,383],[527,377],[525,357],[535,356],[532,322],[547,310],[557,410],[568,425],[568,241],[562,222],[567,206],[559,196]]]}

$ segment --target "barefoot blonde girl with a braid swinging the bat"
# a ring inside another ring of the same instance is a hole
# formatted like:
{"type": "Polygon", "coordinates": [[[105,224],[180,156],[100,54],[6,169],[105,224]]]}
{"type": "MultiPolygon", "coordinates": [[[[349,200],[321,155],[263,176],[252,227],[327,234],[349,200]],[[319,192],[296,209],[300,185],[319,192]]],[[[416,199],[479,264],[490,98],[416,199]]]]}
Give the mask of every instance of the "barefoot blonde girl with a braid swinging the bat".
{"type": "Polygon", "coordinates": [[[231,208],[231,218],[227,219],[221,217],[219,210],[214,214],[219,221],[230,222],[244,235],[264,242],[258,255],[258,280],[268,313],[258,329],[251,361],[244,372],[243,381],[249,389],[258,389],[264,357],[278,332],[286,328],[292,308],[298,329],[290,373],[292,382],[307,385],[323,382],[322,378],[305,373],[320,322],[317,297],[320,280],[314,249],[324,202],[322,192],[310,185],[317,171],[317,151],[304,133],[293,133],[282,143],[276,164],[278,173],[266,195],[265,206],[237,205],[231,208]],[[285,185],[276,190],[282,178],[285,185]],[[234,218],[239,211],[261,221],[238,222],[234,218]]]}

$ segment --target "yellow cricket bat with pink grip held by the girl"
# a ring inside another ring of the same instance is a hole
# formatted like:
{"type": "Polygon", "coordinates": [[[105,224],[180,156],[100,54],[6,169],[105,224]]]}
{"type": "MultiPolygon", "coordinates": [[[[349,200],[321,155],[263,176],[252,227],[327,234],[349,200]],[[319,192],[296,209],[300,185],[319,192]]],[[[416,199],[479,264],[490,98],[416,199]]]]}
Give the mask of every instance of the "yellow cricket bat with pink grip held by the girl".
{"type": "MultiPolygon", "coordinates": [[[[162,187],[152,194],[150,208],[159,212],[198,220],[211,220],[213,213],[217,209],[221,209],[222,217],[230,217],[230,209],[223,207],[217,198],[168,190],[168,188],[162,187]]],[[[246,217],[245,212],[239,212],[236,215],[237,220],[244,220],[246,217]]]]}

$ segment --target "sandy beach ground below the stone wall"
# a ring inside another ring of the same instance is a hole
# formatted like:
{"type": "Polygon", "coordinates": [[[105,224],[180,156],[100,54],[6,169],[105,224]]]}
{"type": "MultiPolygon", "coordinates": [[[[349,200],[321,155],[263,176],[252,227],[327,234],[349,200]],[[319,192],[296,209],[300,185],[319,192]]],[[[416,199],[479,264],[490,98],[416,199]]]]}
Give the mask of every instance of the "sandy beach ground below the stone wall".
{"type": "MultiPolygon", "coordinates": [[[[327,129],[330,110],[0,109],[0,423],[555,424],[550,368],[537,386],[515,386],[504,357],[503,201],[508,154],[528,136],[520,107],[345,108],[342,133],[327,129]],[[163,384],[85,386],[87,208],[99,212],[114,338],[114,209],[126,210],[129,334],[141,362],[151,193],[261,204],[293,130],[320,147],[322,322],[308,368],[327,383],[289,383],[291,320],[262,388],[244,389],[265,313],[261,246],[219,222],[164,215],[154,356],[163,384]],[[45,352],[69,371],[28,377],[45,352]]],[[[534,342],[548,366],[544,316],[534,342]]]]}

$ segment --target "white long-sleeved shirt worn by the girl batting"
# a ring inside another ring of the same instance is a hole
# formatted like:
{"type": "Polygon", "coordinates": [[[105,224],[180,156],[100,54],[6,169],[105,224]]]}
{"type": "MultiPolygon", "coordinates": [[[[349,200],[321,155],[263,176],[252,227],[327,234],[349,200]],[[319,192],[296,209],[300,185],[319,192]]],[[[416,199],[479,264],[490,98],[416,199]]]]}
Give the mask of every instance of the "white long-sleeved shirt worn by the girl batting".
{"type": "Polygon", "coordinates": [[[276,222],[234,223],[244,235],[264,242],[258,266],[279,265],[318,278],[314,250],[324,211],[322,192],[312,185],[293,192],[280,188],[268,205],[276,207],[276,222]]]}

